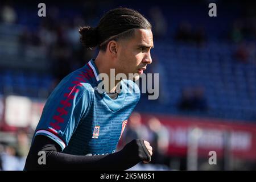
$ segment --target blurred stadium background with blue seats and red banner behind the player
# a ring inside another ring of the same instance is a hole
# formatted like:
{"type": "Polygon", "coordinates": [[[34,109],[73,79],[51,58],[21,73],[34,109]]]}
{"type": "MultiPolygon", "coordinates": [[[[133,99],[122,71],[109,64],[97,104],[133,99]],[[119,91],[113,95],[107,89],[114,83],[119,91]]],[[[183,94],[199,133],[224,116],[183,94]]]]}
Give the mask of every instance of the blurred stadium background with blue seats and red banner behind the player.
{"type": "Polygon", "coordinates": [[[0,2],[0,170],[22,170],[47,97],[96,55],[79,26],[96,26],[118,6],[153,25],[159,98],[141,101],[118,144],[150,141],[150,164],[134,170],[256,169],[256,3],[254,1],[0,2]],[[217,17],[208,5],[217,4],[217,17]],[[210,165],[209,151],[217,164],[210,165]]]}

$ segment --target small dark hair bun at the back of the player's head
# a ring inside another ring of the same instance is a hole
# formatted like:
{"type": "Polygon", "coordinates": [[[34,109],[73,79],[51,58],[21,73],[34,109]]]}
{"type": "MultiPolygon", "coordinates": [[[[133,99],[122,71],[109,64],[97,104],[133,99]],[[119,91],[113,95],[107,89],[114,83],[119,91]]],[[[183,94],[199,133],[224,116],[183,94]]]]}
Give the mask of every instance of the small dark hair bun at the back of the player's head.
{"type": "Polygon", "coordinates": [[[86,48],[93,48],[98,46],[98,33],[97,28],[90,26],[80,27],[79,33],[81,34],[80,42],[86,48]]]}

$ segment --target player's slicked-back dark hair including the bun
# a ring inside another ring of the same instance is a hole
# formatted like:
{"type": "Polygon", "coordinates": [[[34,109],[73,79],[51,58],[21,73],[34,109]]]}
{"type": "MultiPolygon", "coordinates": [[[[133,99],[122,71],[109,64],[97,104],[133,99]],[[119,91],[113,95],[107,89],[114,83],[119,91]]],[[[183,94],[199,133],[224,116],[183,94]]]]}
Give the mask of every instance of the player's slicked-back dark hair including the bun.
{"type": "Polygon", "coordinates": [[[134,28],[151,29],[151,24],[138,11],[125,7],[109,10],[100,20],[97,27],[80,27],[80,42],[86,48],[99,46],[106,50],[110,40],[130,38],[134,28]]]}

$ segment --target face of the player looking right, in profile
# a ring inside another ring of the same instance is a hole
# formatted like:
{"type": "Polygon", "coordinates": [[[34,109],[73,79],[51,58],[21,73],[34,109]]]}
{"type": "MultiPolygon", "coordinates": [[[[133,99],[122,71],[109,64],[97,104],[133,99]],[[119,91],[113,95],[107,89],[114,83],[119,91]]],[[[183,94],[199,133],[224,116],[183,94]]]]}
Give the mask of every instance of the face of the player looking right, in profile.
{"type": "Polygon", "coordinates": [[[129,73],[138,73],[134,78],[138,80],[147,64],[152,63],[150,55],[152,47],[154,47],[152,31],[150,29],[135,29],[132,38],[121,41],[117,56],[117,72],[125,73],[127,78],[129,78],[129,73]]]}

